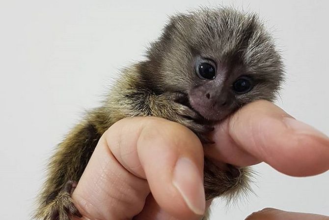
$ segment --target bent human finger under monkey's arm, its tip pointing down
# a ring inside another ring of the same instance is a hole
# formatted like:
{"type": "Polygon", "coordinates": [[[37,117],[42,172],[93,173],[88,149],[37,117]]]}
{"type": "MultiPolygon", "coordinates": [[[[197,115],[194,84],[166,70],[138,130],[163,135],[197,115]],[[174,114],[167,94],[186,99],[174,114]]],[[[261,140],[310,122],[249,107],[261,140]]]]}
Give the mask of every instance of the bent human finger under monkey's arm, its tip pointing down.
{"type": "Polygon", "coordinates": [[[188,128],[159,118],[128,118],[100,139],[72,198],[89,219],[132,219],[152,192],[179,219],[205,211],[203,149],[188,128]]]}

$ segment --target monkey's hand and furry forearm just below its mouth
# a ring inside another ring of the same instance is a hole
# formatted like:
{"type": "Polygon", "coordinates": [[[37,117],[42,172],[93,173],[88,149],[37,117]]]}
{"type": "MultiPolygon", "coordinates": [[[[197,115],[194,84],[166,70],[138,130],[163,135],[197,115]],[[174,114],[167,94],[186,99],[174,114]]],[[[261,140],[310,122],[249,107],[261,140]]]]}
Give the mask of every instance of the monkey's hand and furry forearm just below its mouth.
{"type": "Polygon", "coordinates": [[[188,105],[186,94],[177,92],[167,92],[150,101],[150,108],[155,116],[190,128],[203,144],[214,143],[207,137],[214,127],[188,105]]]}

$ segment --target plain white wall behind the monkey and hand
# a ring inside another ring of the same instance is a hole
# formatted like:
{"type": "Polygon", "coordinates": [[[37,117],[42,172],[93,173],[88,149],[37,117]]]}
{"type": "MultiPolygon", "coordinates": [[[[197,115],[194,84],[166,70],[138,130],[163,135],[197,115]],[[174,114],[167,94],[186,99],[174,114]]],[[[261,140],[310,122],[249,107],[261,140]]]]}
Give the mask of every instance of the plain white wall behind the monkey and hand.
{"type": "MultiPolygon", "coordinates": [[[[328,1],[2,0],[1,219],[27,219],[51,150],[99,104],[118,69],[142,58],[168,15],[219,3],[268,21],[287,67],[278,105],[328,135],[328,1]]],[[[219,201],[213,220],[243,220],[264,207],[329,215],[329,172],[293,178],[266,164],[255,170],[257,196],[230,207],[219,201]]]]}

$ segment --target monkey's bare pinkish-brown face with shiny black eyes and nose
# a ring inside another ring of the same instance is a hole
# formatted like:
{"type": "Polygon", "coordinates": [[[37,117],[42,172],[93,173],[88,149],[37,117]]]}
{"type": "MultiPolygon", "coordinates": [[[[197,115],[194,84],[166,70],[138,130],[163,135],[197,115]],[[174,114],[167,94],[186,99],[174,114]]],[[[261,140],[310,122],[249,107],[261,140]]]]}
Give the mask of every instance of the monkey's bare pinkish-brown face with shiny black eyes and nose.
{"type": "Polygon", "coordinates": [[[197,56],[195,74],[198,85],[192,86],[188,98],[192,108],[207,120],[219,121],[250,99],[255,81],[243,65],[230,67],[197,56]]]}

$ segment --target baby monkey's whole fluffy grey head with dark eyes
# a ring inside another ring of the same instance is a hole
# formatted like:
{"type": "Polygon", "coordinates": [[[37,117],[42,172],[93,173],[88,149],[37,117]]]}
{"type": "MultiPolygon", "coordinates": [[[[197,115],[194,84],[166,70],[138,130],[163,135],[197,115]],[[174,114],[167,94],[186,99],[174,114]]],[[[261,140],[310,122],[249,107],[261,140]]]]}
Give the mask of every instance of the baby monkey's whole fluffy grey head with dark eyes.
{"type": "Polygon", "coordinates": [[[172,17],[147,57],[146,81],[186,94],[209,121],[220,121],[256,99],[272,101],[283,79],[271,35],[255,14],[232,8],[172,17]]]}

